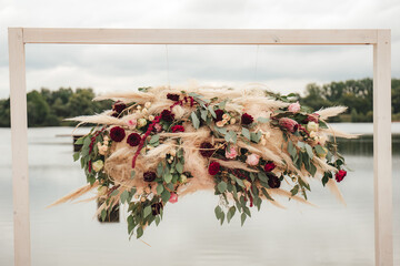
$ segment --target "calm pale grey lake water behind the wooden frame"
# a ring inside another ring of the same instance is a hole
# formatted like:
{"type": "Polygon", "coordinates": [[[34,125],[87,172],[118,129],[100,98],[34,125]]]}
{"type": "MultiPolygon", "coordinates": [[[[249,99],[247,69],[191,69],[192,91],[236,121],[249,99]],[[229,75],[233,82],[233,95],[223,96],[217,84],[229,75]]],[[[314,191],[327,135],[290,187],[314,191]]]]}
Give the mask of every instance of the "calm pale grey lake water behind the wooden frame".
{"type": "MultiPolygon", "coordinates": [[[[354,133],[372,133],[372,124],[338,124],[354,133]]],[[[311,183],[309,207],[281,200],[288,209],[263,204],[243,227],[234,217],[219,225],[218,197],[199,192],[167,206],[159,227],[143,241],[128,239],[121,222],[101,224],[96,203],[46,206],[86,178],[72,162],[71,127],[29,130],[29,177],[32,263],[54,265],[373,265],[372,137],[339,144],[353,170],[339,184],[344,207],[320,182],[311,183]]],[[[400,123],[393,124],[394,264],[400,265],[400,123]]],[[[13,265],[10,130],[0,129],[0,265],[13,265]]]]}

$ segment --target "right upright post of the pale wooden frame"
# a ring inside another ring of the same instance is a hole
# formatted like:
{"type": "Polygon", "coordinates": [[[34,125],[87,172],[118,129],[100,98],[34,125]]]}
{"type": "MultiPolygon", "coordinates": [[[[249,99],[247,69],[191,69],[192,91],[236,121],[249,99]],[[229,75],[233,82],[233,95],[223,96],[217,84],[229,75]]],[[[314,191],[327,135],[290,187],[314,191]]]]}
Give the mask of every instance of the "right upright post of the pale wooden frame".
{"type": "Polygon", "coordinates": [[[376,265],[393,265],[390,30],[373,47],[373,176],[376,265]]]}

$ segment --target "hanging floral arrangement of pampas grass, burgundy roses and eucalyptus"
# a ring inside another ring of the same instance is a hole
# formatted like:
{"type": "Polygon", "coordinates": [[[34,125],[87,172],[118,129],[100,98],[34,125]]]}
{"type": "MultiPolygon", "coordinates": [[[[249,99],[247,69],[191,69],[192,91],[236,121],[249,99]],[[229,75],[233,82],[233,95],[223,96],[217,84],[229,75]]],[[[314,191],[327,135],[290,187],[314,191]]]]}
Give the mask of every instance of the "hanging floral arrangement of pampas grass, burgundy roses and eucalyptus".
{"type": "Polygon", "coordinates": [[[74,153],[88,185],[54,204],[97,188],[97,215],[128,205],[128,233],[142,236],[159,224],[168,204],[200,190],[219,197],[217,219],[241,224],[263,201],[308,203],[310,181],[342,201],[336,182],[347,175],[336,137],[354,137],[331,129],[326,120],[346,111],[336,106],[310,112],[292,94],[264,90],[144,88],[111,93],[112,110],[72,120],[97,124],[77,141],[74,153]],[[332,137],[331,137],[332,136],[332,137]]]}

